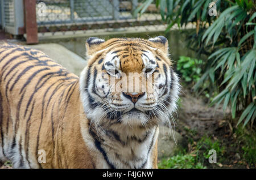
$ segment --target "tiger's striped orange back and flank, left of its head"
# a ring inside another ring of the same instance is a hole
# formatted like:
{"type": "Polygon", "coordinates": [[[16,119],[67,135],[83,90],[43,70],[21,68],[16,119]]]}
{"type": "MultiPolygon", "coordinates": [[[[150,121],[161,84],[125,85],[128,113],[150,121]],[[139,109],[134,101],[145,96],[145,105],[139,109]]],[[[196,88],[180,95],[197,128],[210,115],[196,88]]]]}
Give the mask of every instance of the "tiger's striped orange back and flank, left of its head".
{"type": "Polygon", "coordinates": [[[66,152],[76,150],[68,138],[82,138],[79,121],[72,127],[64,122],[74,114],[81,118],[81,112],[76,75],[39,50],[0,46],[0,161],[11,160],[14,168],[72,168],[66,152]],[[45,164],[38,162],[41,149],[47,152],[45,164]]]}

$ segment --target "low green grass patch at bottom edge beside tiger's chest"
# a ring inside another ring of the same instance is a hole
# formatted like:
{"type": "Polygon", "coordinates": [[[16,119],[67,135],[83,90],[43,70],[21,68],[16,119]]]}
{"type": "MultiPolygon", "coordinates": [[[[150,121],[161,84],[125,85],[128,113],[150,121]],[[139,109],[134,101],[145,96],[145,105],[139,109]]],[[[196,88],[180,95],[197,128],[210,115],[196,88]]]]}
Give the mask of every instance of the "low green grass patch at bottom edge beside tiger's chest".
{"type": "Polygon", "coordinates": [[[192,155],[176,155],[164,158],[159,164],[159,169],[205,169],[200,162],[196,162],[196,157],[192,155]]]}

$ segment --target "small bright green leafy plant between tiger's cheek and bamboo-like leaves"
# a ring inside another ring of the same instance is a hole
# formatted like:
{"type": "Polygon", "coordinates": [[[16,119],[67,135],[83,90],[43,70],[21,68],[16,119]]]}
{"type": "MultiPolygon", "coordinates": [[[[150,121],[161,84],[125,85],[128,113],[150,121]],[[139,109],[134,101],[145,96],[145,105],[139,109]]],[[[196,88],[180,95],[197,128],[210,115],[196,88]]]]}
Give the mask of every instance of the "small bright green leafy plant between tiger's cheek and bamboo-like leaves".
{"type": "Polygon", "coordinates": [[[177,70],[181,73],[185,82],[198,82],[201,78],[200,65],[202,63],[201,59],[180,56],[177,61],[177,70]]]}

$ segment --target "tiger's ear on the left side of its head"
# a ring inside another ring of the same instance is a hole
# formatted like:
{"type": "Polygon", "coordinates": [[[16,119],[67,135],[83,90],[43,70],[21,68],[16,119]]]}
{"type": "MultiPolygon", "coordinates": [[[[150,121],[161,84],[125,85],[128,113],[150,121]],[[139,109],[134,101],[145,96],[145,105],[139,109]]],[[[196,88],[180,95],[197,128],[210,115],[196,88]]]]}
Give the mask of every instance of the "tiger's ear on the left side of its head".
{"type": "Polygon", "coordinates": [[[89,37],[88,40],[86,40],[86,54],[92,55],[96,53],[98,50],[101,50],[101,44],[103,42],[105,42],[105,40],[102,40],[101,38],[89,37]]]}

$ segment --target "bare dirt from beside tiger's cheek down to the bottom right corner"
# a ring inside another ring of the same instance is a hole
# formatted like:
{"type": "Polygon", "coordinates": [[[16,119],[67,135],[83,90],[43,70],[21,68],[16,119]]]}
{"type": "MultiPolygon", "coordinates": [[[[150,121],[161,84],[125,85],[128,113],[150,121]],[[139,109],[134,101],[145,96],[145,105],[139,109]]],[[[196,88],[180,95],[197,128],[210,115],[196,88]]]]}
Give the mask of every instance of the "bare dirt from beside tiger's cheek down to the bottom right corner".
{"type": "MultiPolygon", "coordinates": [[[[218,140],[220,146],[225,147],[225,153],[221,157],[222,164],[209,165],[208,168],[256,168],[249,166],[242,159],[241,141],[233,129],[236,127],[236,122],[230,116],[228,108],[224,113],[222,105],[218,108],[209,107],[206,102],[207,98],[196,97],[195,93],[185,88],[183,88],[180,97],[181,105],[176,131],[184,139],[192,139],[195,144],[200,138],[207,136],[212,137],[213,140],[218,140]]],[[[189,144],[188,141],[184,141],[181,145],[188,148],[188,151],[193,151],[193,144],[189,144]]]]}

